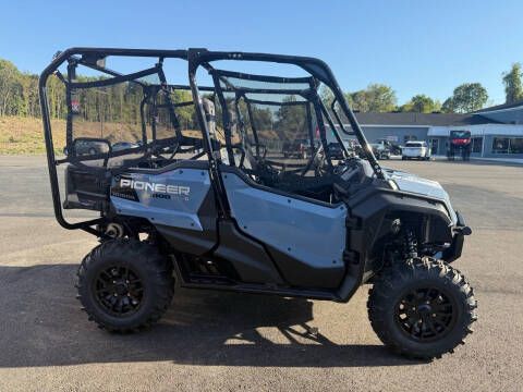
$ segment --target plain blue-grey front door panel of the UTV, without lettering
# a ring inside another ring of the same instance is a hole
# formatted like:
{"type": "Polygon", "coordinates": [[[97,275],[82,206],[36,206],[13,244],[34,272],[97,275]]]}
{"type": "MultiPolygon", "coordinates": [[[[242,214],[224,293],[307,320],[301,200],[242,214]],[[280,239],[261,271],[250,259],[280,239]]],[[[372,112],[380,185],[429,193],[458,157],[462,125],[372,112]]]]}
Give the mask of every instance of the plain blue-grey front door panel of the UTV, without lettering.
{"type": "Polygon", "coordinates": [[[272,257],[288,282],[339,284],[346,236],[343,205],[328,207],[284,196],[247,184],[232,172],[222,173],[222,179],[232,217],[243,232],[276,249],[272,257]]]}

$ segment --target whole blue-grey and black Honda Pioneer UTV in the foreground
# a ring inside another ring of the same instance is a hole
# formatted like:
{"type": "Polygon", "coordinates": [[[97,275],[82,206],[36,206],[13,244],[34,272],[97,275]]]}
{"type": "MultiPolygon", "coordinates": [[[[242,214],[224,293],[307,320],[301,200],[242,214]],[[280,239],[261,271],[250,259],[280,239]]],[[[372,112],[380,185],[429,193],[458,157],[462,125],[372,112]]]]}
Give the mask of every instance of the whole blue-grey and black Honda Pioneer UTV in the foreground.
{"type": "Polygon", "coordinates": [[[471,229],[438,183],[378,164],[324,62],[73,48],[39,95],[56,218],[100,242],[77,273],[100,327],[158,321],[175,283],[340,303],[367,283],[372,327],[400,354],[439,357],[471,332],[473,290],[450,266],[471,229]],[[293,140],[311,154],[284,157],[293,140]]]}

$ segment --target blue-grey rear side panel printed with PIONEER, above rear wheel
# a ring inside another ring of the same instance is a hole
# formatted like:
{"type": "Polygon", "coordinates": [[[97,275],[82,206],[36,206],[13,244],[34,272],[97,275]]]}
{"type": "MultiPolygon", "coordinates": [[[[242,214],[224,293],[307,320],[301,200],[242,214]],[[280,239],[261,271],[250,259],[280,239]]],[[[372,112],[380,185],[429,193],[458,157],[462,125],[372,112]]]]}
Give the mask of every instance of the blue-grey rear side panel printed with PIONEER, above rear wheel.
{"type": "Polygon", "coordinates": [[[130,170],[113,180],[111,204],[119,215],[147,219],[177,250],[202,255],[217,243],[218,212],[204,168],[130,170]]]}

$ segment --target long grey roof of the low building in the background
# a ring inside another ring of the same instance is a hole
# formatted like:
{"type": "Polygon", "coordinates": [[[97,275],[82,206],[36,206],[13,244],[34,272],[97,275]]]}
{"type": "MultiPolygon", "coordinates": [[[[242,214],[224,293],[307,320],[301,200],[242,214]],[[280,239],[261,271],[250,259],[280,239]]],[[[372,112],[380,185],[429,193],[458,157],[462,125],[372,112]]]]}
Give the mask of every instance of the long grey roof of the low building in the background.
{"type": "Polygon", "coordinates": [[[458,113],[377,113],[356,112],[357,121],[362,125],[405,125],[405,126],[445,126],[445,125],[478,125],[497,123],[495,120],[481,114],[458,113]]]}

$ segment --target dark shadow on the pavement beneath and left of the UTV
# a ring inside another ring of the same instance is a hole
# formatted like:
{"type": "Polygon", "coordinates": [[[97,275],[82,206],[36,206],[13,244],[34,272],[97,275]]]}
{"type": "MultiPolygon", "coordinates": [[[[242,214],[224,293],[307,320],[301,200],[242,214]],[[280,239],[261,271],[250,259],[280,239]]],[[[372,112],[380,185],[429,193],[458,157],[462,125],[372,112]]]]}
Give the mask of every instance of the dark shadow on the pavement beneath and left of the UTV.
{"type": "Polygon", "coordinates": [[[80,310],[76,269],[0,266],[0,367],[157,360],[278,367],[416,364],[381,345],[340,345],[313,333],[313,302],[277,296],[179,290],[159,324],[138,334],[110,334],[80,310]],[[264,328],[268,331],[262,334],[264,328]]]}

